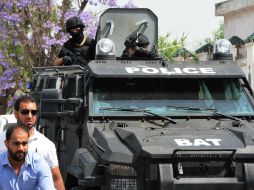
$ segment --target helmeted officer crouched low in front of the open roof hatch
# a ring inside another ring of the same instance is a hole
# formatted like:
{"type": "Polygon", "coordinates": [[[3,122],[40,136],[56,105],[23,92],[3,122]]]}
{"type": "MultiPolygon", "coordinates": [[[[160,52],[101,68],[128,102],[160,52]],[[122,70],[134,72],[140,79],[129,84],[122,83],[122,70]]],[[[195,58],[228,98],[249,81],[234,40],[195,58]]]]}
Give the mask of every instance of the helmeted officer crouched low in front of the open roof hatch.
{"type": "Polygon", "coordinates": [[[149,51],[149,39],[144,34],[138,34],[136,36],[131,36],[124,43],[125,50],[123,51],[122,58],[138,58],[138,59],[147,59],[157,57],[156,53],[149,51]]]}

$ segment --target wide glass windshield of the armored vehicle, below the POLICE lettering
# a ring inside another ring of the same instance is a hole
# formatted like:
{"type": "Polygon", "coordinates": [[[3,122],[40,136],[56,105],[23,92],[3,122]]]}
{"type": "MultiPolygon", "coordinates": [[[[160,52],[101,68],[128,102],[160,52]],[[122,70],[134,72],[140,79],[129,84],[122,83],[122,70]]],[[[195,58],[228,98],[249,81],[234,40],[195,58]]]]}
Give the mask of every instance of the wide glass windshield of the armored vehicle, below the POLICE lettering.
{"type": "Polygon", "coordinates": [[[137,114],[105,108],[145,109],[163,115],[188,114],[197,107],[231,115],[254,115],[252,105],[237,79],[115,79],[96,80],[92,114],[137,114]],[[172,107],[171,107],[172,106],[172,107]]]}

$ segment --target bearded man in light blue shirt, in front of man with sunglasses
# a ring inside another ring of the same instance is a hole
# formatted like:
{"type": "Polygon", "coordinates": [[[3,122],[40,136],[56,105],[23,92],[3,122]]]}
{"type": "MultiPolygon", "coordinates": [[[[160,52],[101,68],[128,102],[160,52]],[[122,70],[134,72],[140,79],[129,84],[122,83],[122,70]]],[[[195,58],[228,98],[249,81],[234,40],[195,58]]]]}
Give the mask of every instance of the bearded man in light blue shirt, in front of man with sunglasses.
{"type": "Polygon", "coordinates": [[[0,154],[0,190],[53,190],[49,165],[28,151],[28,129],[12,126],[6,131],[6,151],[0,154]]]}

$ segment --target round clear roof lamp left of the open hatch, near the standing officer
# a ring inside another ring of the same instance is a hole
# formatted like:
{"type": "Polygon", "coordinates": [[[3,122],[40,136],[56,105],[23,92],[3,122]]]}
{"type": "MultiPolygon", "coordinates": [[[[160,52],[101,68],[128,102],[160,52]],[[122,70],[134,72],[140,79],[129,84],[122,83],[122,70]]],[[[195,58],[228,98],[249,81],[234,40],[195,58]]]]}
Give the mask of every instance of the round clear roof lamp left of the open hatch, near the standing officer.
{"type": "Polygon", "coordinates": [[[96,57],[101,58],[100,56],[103,56],[103,58],[115,56],[115,44],[112,40],[102,38],[98,41],[96,44],[96,57]]]}

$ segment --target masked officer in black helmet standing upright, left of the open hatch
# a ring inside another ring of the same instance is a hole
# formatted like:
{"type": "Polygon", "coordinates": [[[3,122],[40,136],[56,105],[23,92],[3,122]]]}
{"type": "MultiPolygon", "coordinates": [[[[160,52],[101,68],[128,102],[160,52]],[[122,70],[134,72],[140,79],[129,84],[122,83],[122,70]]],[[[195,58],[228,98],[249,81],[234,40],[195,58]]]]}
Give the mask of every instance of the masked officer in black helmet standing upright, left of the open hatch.
{"type": "Polygon", "coordinates": [[[95,57],[96,42],[84,36],[85,25],[79,17],[71,17],[66,21],[66,31],[71,38],[64,43],[54,65],[85,66],[95,57]]]}

